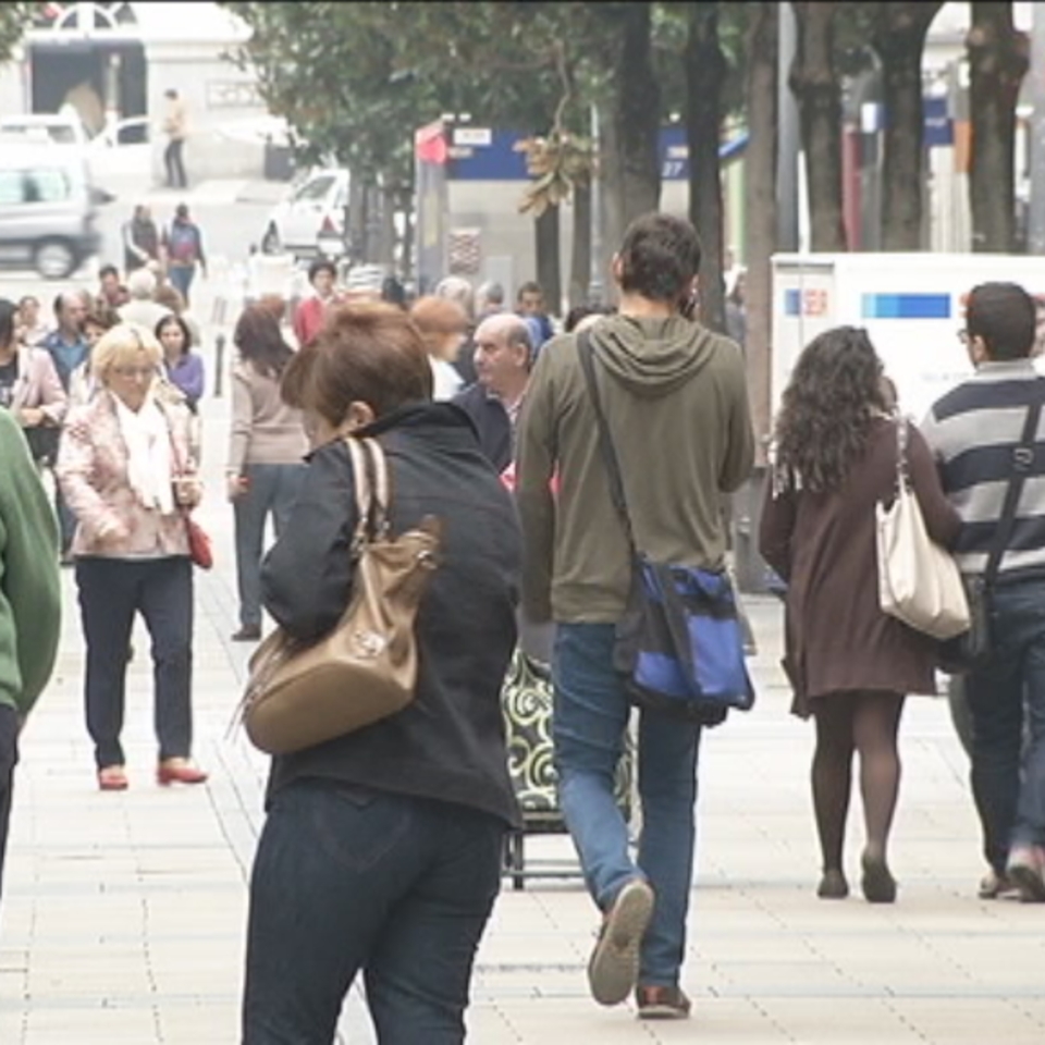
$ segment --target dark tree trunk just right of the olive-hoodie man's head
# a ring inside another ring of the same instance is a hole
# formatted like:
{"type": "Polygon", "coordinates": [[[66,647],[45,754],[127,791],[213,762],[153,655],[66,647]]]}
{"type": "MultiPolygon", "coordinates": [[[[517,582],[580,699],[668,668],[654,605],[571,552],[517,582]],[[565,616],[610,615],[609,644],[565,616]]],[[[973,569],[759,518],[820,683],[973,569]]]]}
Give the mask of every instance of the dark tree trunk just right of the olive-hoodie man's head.
{"type": "Polygon", "coordinates": [[[718,46],[718,4],[690,3],[686,38],[686,140],[689,146],[689,217],[700,233],[700,318],[726,329],[722,279],[722,82],[726,61],[718,46]]]}

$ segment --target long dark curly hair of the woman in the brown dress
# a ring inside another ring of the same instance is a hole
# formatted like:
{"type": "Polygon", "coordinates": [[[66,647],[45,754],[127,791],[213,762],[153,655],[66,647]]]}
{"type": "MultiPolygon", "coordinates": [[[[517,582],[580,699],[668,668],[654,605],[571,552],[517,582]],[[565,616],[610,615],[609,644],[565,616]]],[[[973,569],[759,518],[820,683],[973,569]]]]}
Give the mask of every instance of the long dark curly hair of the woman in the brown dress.
{"type": "Polygon", "coordinates": [[[866,451],[874,416],[889,410],[882,373],[865,330],[836,327],[814,337],[776,419],[777,471],[813,493],[837,490],[866,451]]]}

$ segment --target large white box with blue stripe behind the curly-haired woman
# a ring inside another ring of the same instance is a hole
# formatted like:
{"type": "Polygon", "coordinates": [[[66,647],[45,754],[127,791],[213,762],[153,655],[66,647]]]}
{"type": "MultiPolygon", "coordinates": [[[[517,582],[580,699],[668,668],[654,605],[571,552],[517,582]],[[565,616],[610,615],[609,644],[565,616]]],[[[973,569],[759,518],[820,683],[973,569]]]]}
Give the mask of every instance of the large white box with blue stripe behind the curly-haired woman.
{"type": "Polygon", "coordinates": [[[959,340],[966,300],[979,283],[1019,283],[1038,302],[1045,332],[1045,259],[999,254],[782,254],[773,258],[774,414],[799,355],[833,327],[863,327],[899,394],[920,420],[966,380],[959,340]]]}

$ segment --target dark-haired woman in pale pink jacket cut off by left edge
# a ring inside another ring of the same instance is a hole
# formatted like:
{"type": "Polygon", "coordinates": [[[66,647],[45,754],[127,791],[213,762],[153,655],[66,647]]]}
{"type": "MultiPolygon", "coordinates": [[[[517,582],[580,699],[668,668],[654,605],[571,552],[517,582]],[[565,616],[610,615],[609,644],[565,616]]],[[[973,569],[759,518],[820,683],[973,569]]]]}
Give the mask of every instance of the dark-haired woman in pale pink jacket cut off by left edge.
{"type": "Polygon", "coordinates": [[[19,343],[19,307],[0,298],[0,407],[22,426],[33,456],[53,457],[66,396],[50,355],[19,343]]]}

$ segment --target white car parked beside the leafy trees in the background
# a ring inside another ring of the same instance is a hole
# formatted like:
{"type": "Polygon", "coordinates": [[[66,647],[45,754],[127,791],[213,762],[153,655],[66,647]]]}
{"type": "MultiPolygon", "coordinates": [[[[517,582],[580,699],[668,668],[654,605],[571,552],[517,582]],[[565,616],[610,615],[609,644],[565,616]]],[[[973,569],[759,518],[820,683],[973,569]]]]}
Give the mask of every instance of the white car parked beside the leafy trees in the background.
{"type": "Polygon", "coordinates": [[[312,171],[272,209],[261,236],[262,251],[295,258],[334,253],[344,242],[347,206],[348,172],[312,171]]]}

